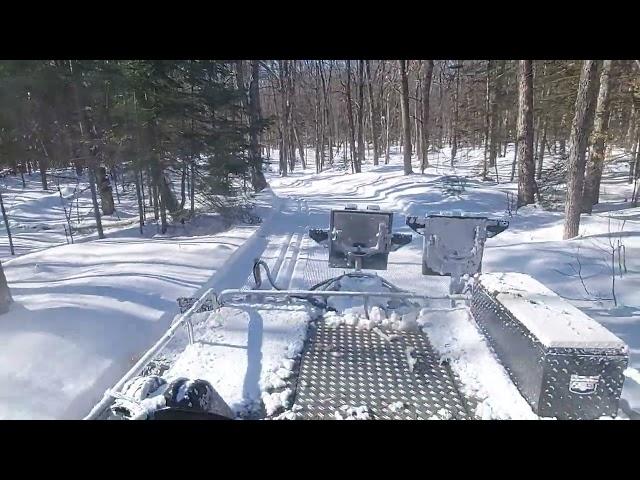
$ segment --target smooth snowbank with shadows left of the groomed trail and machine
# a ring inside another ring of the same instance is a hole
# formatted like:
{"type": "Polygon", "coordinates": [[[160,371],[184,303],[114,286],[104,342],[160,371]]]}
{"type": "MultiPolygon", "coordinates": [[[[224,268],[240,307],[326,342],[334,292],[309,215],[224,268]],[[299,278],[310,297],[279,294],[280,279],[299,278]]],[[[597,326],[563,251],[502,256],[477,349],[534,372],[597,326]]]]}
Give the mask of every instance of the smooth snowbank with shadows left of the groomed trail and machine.
{"type": "MultiPolygon", "coordinates": [[[[274,198],[259,200],[268,221],[274,198]]],[[[81,418],[168,328],[178,297],[242,285],[251,254],[241,247],[261,228],[221,231],[203,217],[4,263],[15,303],[0,321],[0,418],[81,418]]]]}

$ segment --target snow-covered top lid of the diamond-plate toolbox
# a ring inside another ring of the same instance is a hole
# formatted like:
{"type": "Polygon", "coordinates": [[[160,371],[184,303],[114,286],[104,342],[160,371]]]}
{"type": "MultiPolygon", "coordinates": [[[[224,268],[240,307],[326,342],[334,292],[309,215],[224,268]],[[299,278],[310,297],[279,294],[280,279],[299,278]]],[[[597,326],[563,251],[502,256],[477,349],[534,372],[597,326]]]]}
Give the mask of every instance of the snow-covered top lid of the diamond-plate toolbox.
{"type": "Polygon", "coordinates": [[[621,349],[600,323],[523,273],[483,273],[480,284],[546,347],[621,349]]]}

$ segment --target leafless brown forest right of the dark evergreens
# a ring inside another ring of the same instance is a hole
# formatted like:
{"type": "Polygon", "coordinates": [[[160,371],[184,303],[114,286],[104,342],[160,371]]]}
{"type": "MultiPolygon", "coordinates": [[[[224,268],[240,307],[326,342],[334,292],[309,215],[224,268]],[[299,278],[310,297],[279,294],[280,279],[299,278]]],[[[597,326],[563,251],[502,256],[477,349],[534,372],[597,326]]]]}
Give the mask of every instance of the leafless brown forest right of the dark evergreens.
{"type": "Polygon", "coordinates": [[[278,60],[260,62],[262,111],[274,119],[263,145],[278,150],[281,175],[336,158],[353,173],[365,151],[388,163],[392,146],[421,171],[429,152],[484,149],[484,180],[517,181],[517,206],[563,192],[565,238],[578,234],[581,213],[599,201],[612,147],[630,159],[628,182],[638,200],[640,62],[638,60],[278,60]],[[496,159],[516,153],[509,178],[496,159]],[[561,183],[562,186],[558,184],[561,183]],[[566,187],[566,188],[564,188],[566,187]]]}

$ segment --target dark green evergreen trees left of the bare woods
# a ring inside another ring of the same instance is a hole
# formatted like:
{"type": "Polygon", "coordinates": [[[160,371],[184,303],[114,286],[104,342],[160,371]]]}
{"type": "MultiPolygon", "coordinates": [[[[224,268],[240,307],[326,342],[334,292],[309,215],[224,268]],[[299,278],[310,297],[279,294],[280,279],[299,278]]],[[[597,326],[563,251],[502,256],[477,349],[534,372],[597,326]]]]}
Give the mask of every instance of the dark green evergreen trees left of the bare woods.
{"type": "Polygon", "coordinates": [[[215,208],[266,186],[257,72],[243,61],[0,62],[0,165],[38,171],[44,190],[52,168],[86,171],[100,238],[126,177],[141,230],[148,201],[165,232],[167,216],[194,213],[196,192],[215,208]]]}

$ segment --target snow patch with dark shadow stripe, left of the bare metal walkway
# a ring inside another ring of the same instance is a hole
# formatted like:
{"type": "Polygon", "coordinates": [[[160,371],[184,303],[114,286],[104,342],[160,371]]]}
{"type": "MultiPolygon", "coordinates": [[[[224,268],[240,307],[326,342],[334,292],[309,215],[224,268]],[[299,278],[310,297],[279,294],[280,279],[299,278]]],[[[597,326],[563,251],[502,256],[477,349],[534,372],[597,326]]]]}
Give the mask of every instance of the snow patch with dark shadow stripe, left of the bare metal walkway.
{"type": "Polygon", "coordinates": [[[237,415],[260,400],[268,415],[289,407],[293,392],[283,388],[293,375],[290,357],[299,355],[305,339],[307,308],[257,304],[200,317],[194,344],[176,342],[165,351],[175,362],[164,377],[207,380],[237,415]]]}

